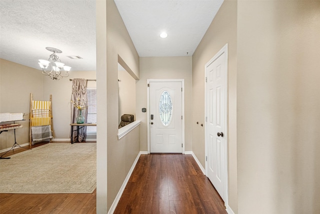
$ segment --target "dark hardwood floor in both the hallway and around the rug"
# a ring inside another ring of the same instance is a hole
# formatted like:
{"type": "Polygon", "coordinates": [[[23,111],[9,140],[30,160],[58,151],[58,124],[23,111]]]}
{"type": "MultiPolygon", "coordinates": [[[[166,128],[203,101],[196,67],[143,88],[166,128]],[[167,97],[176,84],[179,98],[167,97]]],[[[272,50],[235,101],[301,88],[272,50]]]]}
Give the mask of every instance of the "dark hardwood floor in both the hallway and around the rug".
{"type": "MultiPolygon", "coordinates": [[[[14,149],[8,155],[20,151],[23,148],[14,149]]],[[[96,190],[92,194],[0,193],[0,213],[96,213],[96,190]]],[[[140,156],[114,213],[226,211],[222,199],[191,155],[148,154],[140,156]]]]}

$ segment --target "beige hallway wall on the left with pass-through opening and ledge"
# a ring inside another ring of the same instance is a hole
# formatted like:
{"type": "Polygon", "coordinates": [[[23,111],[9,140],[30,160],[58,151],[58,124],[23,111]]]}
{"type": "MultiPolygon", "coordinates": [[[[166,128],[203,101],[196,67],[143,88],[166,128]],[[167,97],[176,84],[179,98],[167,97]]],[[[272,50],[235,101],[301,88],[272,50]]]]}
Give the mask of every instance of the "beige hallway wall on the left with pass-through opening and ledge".
{"type": "MultiPolygon", "coordinates": [[[[106,213],[139,153],[139,128],[131,131],[127,137],[117,139],[118,56],[136,77],[139,77],[139,57],[113,1],[96,1],[96,19],[98,79],[96,208],[97,213],[106,213]]],[[[121,66],[123,67],[123,63],[121,66]]]]}

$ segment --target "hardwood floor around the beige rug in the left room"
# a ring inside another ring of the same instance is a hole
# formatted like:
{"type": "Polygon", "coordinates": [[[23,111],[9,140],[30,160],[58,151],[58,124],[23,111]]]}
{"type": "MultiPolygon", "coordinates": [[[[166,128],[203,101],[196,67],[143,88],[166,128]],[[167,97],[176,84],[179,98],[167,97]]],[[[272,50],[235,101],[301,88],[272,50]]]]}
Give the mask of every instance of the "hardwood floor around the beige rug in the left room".
{"type": "MultiPolygon", "coordinates": [[[[39,142],[32,148],[48,142],[39,142]]],[[[68,141],[52,141],[52,143],[68,143],[68,141]]],[[[83,141],[85,143],[85,141],[83,141]]],[[[95,141],[86,141],[95,143],[95,141]]],[[[26,146],[28,147],[28,146],[26,146]]],[[[16,147],[7,152],[3,157],[25,151],[25,148],[16,147]]],[[[2,155],[2,152],[0,155],[2,155]]],[[[8,161],[8,160],[0,160],[8,161]]],[[[0,213],[96,213],[96,190],[91,194],[5,194],[0,193],[0,213]]]]}

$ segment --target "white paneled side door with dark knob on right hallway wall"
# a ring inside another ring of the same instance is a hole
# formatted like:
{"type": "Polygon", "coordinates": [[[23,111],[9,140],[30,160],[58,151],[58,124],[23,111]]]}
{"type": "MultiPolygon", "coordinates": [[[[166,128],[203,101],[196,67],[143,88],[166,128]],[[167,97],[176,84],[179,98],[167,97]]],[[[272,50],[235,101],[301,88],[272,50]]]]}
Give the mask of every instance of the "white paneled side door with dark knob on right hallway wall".
{"type": "MultiPolygon", "coordinates": [[[[206,75],[206,154],[207,177],[225,201],[226,182],[226,53],[212,58],[206,75]]],[[[226,202],[226,201],[225,201],[226,202]]]]}

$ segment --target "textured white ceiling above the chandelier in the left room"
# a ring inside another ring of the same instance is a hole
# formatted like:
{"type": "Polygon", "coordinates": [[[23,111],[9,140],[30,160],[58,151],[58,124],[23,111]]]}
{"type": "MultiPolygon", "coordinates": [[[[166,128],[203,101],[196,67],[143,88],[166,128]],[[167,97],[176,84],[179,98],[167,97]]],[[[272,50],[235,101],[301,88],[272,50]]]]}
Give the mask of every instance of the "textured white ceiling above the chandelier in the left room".
{"type": "Polygon", "coordinates": [[[39,69],[57,54],[71,71],[95,70],[95,1],[0,0],[0,58],[39,69]],[[72,60],[66,56],[80,56],[72,60]]]}

